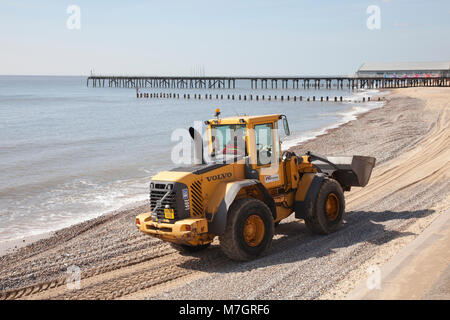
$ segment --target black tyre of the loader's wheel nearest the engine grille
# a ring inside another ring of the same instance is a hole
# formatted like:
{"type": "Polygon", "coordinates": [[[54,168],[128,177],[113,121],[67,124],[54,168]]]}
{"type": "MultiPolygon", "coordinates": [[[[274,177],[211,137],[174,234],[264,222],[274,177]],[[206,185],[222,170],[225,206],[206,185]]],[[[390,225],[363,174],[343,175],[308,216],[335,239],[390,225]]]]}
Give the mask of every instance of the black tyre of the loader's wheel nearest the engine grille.
{"type": "Polygon", "coordinates": [[[220,246],[230,259],[248,261],[266,253],[272,244],[273,234],[274,222],[269,207],[258,199],[238,199],[228,210],[225,232],[219,236],[220,246]],[[244,226],[247,219],[253,215],[262,220],[264,231],[259,244],[250,246],[244,238],[244,226]]]}

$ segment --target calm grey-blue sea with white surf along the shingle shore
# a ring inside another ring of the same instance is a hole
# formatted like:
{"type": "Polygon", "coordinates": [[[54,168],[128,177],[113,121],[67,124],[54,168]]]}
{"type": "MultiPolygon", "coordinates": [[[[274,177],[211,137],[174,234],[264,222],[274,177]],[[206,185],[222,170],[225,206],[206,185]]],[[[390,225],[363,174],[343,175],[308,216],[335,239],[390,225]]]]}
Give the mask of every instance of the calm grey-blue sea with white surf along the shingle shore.
{"type": "MultiPolygon", "coordinates": [[[[238,84],[239,85],[239,84],[238,84]]],[[[156,89],[155,89],[156,90],[156,89]]],[[[155,92],[144,89],[143,92],[155,92]]],[[[177,128],[222,116],[283,113],[283,147],[376,104],[136,99],[135,89],[87,88],[84,77],[0,77],[0,242],[57,230],[147,198],[170,163],[177,128]]],[[[157,92],[352,96],[342,90],[201,89],[157,92]]],[[[361,95],[366,93],[356,93],[361,95]]],[[[353,95],[354,97],[354,95],[353,95]]]]}

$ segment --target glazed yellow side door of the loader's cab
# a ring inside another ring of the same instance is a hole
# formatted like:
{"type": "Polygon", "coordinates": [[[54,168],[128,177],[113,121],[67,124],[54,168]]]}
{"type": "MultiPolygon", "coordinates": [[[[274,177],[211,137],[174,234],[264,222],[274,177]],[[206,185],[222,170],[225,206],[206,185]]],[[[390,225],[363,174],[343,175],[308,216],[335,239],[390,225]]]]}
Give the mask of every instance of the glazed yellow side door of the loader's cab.
{"type": "Polygon", "coordinates": [[[252,147],[249,151],[252,168],[258,172],[259,180],[266,188],[283,185],[278,122],[255,123],[251,129],[249,145],[252,147]]]}

